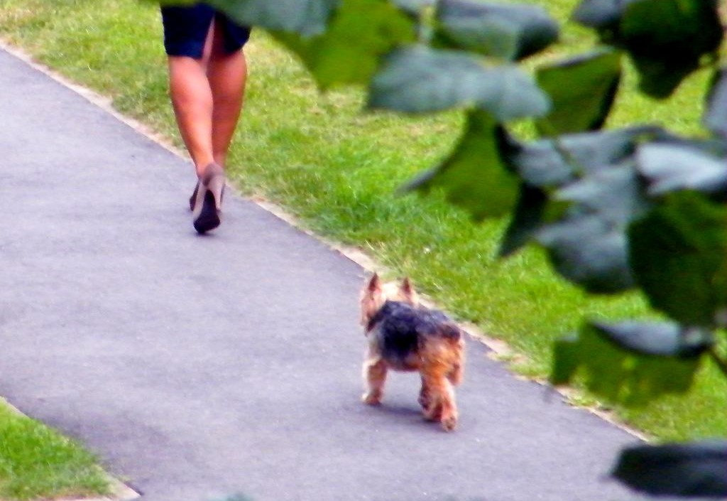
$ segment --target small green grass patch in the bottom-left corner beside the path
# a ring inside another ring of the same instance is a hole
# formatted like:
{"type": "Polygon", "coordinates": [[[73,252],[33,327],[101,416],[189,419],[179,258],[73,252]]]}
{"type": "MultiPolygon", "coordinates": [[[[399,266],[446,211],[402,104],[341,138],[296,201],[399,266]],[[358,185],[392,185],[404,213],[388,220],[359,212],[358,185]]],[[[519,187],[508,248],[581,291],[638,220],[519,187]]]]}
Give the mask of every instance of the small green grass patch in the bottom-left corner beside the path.
{"type": "Polygon", "coordinates": [[[95,457],[0,401],[0,500],[107,494],[95,457]]]}

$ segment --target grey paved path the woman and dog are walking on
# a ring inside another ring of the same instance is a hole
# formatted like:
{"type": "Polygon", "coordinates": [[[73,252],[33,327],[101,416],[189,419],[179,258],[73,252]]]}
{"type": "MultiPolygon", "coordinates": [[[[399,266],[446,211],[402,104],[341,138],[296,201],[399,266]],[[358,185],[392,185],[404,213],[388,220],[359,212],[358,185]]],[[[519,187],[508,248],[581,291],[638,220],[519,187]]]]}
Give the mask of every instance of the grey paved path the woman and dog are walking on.
{"type": "Polygon", "coordinates": [[[359,403],[364,271],[250,202],[198,237],[190,167],[0,51],[0,395],[143,501],[632,499],[634,439],[469,342],[456,433],[417,376],[359,403]]]}

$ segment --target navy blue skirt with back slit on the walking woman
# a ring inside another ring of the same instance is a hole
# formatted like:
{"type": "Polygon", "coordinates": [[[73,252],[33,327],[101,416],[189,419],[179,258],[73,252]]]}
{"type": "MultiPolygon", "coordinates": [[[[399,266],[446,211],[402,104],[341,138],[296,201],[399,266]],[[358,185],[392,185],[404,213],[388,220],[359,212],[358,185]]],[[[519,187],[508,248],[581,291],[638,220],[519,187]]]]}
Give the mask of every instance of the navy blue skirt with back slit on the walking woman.
{"type": "Polygon", "coordinates": [[[225,52],[231,54],[240,50],[250,37],[250,28],[238,25],[222,12],[200,3],[188,7],[161,7],[166,54],[201,58],[213,18],[224,33],[225,52]]]}

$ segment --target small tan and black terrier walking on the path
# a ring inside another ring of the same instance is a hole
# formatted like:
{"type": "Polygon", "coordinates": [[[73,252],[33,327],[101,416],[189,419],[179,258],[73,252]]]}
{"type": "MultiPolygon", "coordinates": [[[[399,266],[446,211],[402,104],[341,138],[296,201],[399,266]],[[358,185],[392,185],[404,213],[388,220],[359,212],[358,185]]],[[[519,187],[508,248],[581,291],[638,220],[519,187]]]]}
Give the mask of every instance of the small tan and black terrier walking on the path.
{"type": "Polygon", "coordinates": [[[401,285],[382,284],[374,275],[361,291],[361,325],[369,339],[364,403],[381,403],[388,369],[419,371],[419,404],[425,419],[454,430],[458,414],[453,385],[462,382],[465,358],[457,324],[438,310],[420,306],[408,278],[401,285]]]}

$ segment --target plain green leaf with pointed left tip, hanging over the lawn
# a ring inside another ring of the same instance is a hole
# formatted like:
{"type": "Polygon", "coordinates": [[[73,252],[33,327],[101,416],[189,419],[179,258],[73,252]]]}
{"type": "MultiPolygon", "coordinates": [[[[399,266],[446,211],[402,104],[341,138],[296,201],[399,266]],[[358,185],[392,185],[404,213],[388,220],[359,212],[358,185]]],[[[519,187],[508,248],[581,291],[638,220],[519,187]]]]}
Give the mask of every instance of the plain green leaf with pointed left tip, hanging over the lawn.
{"type": "Polygon", "coordinates": [[[447,200],[467,209],[476,221],[510,212],[517,180],[500,158],[501,133],[486,111],[470,111],[465,134],[451,156],[404,189],[445,189],[447,200]]]}

